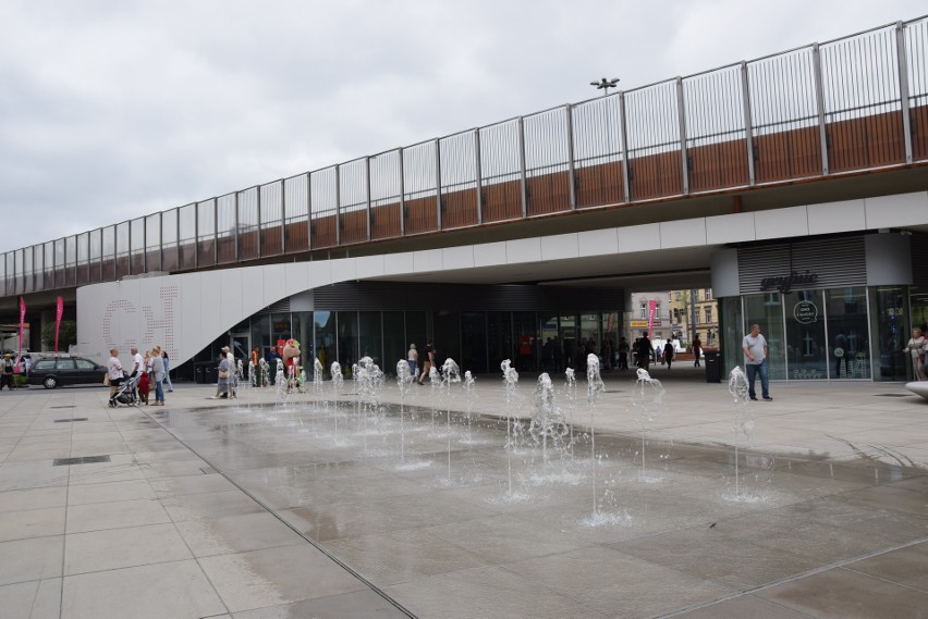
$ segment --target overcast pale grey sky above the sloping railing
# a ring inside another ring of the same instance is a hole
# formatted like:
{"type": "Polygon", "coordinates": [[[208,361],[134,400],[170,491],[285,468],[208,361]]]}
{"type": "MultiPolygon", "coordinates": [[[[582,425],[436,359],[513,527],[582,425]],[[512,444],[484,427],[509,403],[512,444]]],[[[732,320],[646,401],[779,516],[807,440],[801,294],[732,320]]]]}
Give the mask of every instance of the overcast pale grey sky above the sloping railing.
{"type": "Polygon", "coordinates": [[[914,0],[0,0],[0,251],[926,13],[914,0]]]}

